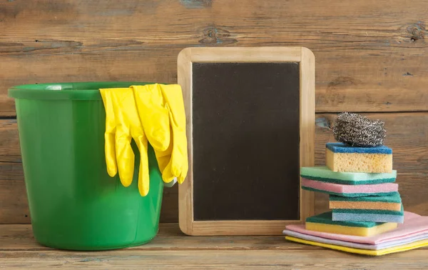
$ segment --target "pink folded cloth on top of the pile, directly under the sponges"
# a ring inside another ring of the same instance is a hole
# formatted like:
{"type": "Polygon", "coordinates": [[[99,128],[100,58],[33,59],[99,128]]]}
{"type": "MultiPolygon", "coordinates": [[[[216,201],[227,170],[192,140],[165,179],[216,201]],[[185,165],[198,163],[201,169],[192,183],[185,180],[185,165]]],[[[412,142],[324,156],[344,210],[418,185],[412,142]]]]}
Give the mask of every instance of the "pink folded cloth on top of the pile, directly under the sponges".
{"type": "Polygon", "coordinates": [[[305,229],[305,225],[288,225],[285,229],[296,231],[300,234],[318,236],[326,239],[334,239],[340,241],[348,241],[360,244],[380,244],[387,241],[396,241],[399,239],[407,239],[408,237],[418,236],[428,233],[428,216],[419,216],[412,212],[404,211],[404,223],[398,224],[397,229],[377,234],[375,236],[352,236],[345,234],[329,234],[319,231],[309,231],[305,229]]]}

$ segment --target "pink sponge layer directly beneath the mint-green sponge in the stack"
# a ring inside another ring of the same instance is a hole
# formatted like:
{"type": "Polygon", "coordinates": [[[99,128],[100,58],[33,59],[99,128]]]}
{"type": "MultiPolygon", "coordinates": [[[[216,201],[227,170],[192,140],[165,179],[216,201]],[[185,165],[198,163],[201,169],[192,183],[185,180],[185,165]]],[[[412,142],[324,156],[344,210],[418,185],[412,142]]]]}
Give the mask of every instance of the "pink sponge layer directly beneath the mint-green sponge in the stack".
{"type": "Polygon", "coordinates": [[[398,191],[397,183],[342,185],[302,178],[302,186],[332,194],[377,194],[398,191]]]}

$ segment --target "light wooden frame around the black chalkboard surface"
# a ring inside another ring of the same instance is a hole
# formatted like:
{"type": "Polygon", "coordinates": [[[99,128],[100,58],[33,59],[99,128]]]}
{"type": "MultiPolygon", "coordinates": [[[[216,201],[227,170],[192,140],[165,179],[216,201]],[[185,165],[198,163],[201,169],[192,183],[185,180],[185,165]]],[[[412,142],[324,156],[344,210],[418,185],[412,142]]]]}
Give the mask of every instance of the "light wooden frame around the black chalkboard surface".
{"type": "Polygon", "coordinates": [[[300,63],[300,166],[315,161],[315,56],[305,47],[205,47],[186,48],[178,54],[178,84],[183,89],[187,119],[189,171],[178,189],[179,224],[183,233],[208,235],[280,235],[288,224],[301,224],[314,214],[311,191],[300,189],[300,220],[195,221],[193,219],[193,111],[192,63],[300,63]]]}

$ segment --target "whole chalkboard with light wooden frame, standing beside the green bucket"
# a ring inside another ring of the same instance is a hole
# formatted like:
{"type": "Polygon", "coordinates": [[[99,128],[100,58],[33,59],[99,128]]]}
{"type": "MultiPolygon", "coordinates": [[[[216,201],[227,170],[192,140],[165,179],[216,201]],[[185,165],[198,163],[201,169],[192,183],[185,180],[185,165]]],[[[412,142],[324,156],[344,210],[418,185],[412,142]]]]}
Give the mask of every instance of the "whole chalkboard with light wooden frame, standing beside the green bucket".
{"type": "Polygon", "coordinates": [[[313,211],[299,175],[302,161],[313,163],[311,64],[313,54],[301,47],[180,53],[190,156],[179,188],[186,234],[281,234],[313,211]]]}

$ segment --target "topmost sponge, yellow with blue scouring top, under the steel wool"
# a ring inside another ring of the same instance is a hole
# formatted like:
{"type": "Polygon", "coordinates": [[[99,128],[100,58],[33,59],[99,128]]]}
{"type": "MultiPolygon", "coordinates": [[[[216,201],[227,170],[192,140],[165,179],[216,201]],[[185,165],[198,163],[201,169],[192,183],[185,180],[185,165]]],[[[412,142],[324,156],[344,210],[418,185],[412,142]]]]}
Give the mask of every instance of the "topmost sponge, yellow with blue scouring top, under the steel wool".
{"type": "Polygon", "coordinates": [[[352,147],[327,144],[325,163],[332,171],[392,173],[392,151],[386,146],[352,147]]]}

